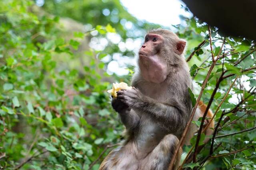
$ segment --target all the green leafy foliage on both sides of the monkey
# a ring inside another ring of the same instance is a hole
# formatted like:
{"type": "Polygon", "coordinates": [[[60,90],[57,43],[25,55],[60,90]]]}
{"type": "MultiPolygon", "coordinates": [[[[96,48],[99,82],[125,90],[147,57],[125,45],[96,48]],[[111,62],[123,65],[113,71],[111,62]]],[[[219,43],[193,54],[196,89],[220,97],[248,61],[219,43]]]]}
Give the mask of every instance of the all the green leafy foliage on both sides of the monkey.
{"type": "MultiPolygon", "coordinates": [[[[54,16],[38,10],[31,0],[0,2],[2,169],[96,170],[116,146],[113,144],[122,139],[123,125],[110,106],[106,90],[111,88],[110,82],[128,81],[132,70],[124,77],[110,77],[106,73],[108,62],[102,59],[110,55],[112,61],[114,53],[134,53],[127,49],[121,52],[115,43],[109,43],[104,51],[81,46],[85,39],[113,32],[122,37],[121,41],[140,38],[142,33],[136,37],[128,32],[140,31],[147,24],[138,24],[118,0],[80,2],[45,1],[44,10],[54,16]],[[111,12],[118,9],[119,17],[131,21],[133,29],[125,28],[120,18],[114,22],[112,15],[102,16],[105,8],[111,12]],[[92,29],[72,31],[65,37],[59,16],[90,23],[92,29]],[[90,34],[95,30],[98,35],[90,34]]],[[[224,38],[215,27],[211,27],[210,35],[206,23],[196,18],[184,20],[186,26],[175,27],[188,41],[186,59],[195,82],[194,94],[189,91],[191,99],[196,104],[194,96],[197,98],[205,87],[201,100],[216,113],[216,133],[207,145],[201,147],[207,136],[195,135],[192,146],[184,147],[185,154],[191,150],[191,155],[197,149],[196,161],[193,163],[188,156],[183,159],[184,168],[254,169],[255,42],[242,37],[224,38]]],[[[202,126],[201,121],[193,123],[202,126]]]]}

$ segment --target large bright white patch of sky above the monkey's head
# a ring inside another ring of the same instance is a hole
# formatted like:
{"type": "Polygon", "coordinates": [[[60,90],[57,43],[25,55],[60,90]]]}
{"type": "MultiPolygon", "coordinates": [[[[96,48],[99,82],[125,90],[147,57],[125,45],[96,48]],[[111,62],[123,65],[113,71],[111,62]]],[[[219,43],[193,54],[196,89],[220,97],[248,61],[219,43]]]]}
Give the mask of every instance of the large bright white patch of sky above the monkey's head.
{"type": "Polygon", "coordinates": [[[180,0],[121,0],[130,14],[139,20],[146,20],[164,26],[177,25],[179,16],[190,17],[192,14],[181,8],[186,6],[180,0]]]}

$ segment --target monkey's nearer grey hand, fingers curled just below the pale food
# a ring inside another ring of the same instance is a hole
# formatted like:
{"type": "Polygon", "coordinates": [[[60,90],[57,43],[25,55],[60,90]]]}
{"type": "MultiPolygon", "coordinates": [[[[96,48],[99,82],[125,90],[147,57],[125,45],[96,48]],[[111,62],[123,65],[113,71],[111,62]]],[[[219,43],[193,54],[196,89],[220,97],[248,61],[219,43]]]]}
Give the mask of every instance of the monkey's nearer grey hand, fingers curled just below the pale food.
{"type": "Polygon", "coordinates": [[[143,97],[144,95],[140,92],[140,90],[134,87],[131,90],[119,90],[117,92],[117,98],[119,98],[121,102],[131,107],[142,102],[143,97]]]}

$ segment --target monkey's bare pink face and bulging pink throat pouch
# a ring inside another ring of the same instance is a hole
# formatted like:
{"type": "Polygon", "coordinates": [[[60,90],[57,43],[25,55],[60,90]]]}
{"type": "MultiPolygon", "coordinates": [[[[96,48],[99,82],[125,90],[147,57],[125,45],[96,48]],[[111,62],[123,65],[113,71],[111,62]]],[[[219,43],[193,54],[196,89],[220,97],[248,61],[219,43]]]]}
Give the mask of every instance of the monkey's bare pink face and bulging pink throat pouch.
{"type": "Polygon", "coordinates": [[[167,64],[158,55],[164,38],[158,34],[148,34],[139,51],[139,66],[143,78],[148,82],[161,83],[168,75],[167,64]]]}

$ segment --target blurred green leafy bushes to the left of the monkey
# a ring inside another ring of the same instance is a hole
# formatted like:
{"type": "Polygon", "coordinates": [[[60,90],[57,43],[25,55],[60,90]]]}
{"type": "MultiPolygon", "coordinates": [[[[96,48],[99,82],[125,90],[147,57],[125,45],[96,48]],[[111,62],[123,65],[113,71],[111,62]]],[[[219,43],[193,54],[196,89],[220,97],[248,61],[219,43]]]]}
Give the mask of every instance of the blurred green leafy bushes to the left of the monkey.
{"type": "MultiPolygon", "coordinates": [[[[1,168],[18,168],[32,156],[22,168],[88,169],[122,132],[108,103],[111,85],[98,72],[104,54],[85,51],[90,64],[83,75],[59,66],[58,57],[76,59],[84,33],[66,41],[59,18],[35,14],[32,7],[29,0],[4,0],[0,7],[1,168]]],[[[101,29],[113,31],[110,25],[101,29]]]]}

